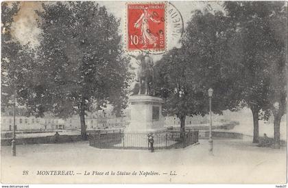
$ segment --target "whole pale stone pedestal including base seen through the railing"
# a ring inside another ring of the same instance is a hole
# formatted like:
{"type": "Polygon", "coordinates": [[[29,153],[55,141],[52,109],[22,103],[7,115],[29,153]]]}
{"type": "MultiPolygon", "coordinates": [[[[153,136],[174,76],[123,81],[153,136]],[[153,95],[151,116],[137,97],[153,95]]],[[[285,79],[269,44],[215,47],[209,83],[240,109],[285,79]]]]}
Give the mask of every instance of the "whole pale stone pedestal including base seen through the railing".
{"type": "Polygon", "coordinates": [[[154,142],[156,146],[165,145],[167,128],[164,128],[161,113],[163,99],[149,95],[132,95],[128,102],[131,108],[131,121],[124,129],[121,143],[115,146],[147,149],[149,133],[157,134],[154,142]]]}

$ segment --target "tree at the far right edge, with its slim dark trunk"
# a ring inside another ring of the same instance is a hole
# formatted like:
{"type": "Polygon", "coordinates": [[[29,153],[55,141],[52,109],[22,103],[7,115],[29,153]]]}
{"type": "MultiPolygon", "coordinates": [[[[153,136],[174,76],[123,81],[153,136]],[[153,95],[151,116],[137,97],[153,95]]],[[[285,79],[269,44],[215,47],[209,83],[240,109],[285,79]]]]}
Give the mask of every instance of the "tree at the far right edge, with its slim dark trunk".
{"type": "Polygon", "coordinates": [[[287,112],[287,3],[274,4],[273,16],[269,17],[271,47],[263,58],[269,60],[265,69],[269,78],[269,109],[274,117],[274,148],[280,148],[280,121],[287,112]]]}

